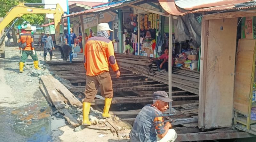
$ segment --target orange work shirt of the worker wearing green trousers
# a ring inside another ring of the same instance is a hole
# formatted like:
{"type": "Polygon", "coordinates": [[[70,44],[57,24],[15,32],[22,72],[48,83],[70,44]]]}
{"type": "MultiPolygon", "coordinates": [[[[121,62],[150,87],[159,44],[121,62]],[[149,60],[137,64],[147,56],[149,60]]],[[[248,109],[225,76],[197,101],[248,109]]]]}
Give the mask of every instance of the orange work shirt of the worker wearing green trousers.
{"type": "MultiPolygon", "coordinates": [[[[21,34],[18,43],[20,43],[20,41],[21,41],[21,43],[24,43],[24,42],[27,43],[27,46],[25,47],[25,49],[22,49],[22,50],[33,50],[33,49],[35,49],[34,36],[32,34],[28,34],[28,33],[21,34]]],[[[20,44],[19,44],[19,49],[20,49],[20,44]]]]}

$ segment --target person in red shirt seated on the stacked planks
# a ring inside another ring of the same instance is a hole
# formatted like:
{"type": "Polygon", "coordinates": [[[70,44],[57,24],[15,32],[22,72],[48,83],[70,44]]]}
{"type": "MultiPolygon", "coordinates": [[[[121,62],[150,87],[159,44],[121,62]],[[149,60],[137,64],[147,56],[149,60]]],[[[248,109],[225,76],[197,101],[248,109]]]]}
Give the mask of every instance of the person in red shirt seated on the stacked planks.
{"type": "MultiPolygon", "coordinates": [[[[158,67],[158,71],[164,72],[164,71],[168,71],[168,67],[169,67],[168,59],[169,59],[169,50],[166,48],[164,50],[164,54],[162,54],[158,58],[150,59],[150,62],[156,60],[156,65],[158,67]],[[160,61],[160,59],[164,59],[164,61],[160,61]]],[[[172,58],[172,66],[173,66],[173,58],[172,58]]]]}

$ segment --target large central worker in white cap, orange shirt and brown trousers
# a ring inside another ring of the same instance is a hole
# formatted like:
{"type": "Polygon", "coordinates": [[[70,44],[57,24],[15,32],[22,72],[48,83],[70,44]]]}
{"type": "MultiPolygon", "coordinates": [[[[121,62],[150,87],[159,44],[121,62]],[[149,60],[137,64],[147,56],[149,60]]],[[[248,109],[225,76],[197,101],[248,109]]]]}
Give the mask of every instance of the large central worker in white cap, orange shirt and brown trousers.
{"type": "Polygon", "coordinates": [[[109,40],[110,31],[108,23],[100,23],[97,26],[97,36],[91,37],[85,44],[84,51],[84,67],[86,70],[86,86],[83,102],[83,125],[91,125],[89,121],[89,112],[91,102],[94,99],[98,87],[102,97],[105,98],[105,106],[102,116],[109,118],[108,113],[113,98],[112,80],[109,74],[109,64],[119,78],[120,71],[116,63],[114,48],[111,40],[109,40]]]}

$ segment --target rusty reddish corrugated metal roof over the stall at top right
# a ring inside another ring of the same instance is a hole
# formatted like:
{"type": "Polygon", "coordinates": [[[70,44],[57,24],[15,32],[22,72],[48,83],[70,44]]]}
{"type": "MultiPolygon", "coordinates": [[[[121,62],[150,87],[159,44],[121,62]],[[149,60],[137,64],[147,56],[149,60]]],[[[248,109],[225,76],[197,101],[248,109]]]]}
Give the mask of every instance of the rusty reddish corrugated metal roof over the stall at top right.
{"type": "Polygon", "coordinates": [[[255,7],[253,0],[158,0],[163,9],[172,15],[185,15],[202,11],[222,11],[255,7]],[[252,5],[237,4],[252,2],[252,5]],[[179,5],[178,5],[179,4],[179,5]]]}

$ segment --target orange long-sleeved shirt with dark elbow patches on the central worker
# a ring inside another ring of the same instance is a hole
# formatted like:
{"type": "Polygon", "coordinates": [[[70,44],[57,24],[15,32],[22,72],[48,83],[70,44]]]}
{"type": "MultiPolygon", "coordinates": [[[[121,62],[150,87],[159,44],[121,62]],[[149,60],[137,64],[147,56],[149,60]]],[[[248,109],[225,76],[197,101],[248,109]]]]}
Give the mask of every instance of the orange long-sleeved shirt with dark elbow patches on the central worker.
{"type": "Polygon", "coordinates": [[[86,75],[96,76],[104,71],[109,71],[109,65],[113,71],[118,71],[112,42],[104,37],[94,36],[85,44],[84,67],[86,75]]]}

